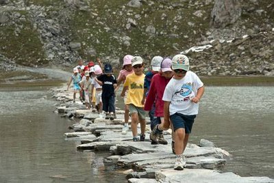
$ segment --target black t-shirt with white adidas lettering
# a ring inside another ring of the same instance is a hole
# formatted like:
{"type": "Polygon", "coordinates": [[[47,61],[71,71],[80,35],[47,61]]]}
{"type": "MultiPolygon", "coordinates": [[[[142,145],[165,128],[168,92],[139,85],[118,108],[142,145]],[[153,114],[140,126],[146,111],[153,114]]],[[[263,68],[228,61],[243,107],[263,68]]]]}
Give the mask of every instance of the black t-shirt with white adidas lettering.
{"type": "Polygon", "coordinates": [[[97,79],[103,82],[102,97],[109,97],[115,95],[114,84],[116,84],[117,81],[116,77],[113,74],[111,74],[111,76],[108,76],[107,74],[102,74],[101,76],[98,76],[97,79]]]}

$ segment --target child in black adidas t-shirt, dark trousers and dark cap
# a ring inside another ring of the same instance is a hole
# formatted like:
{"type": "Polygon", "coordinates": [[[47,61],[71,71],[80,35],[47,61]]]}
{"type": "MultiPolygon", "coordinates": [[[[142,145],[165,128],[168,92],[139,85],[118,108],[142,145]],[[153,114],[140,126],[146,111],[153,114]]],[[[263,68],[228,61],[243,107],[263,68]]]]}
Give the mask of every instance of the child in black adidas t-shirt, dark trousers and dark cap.
{"type": "Polygon", "coordinates": [[[102,85],[102,101],[103,101],[103,111],[105,111],[105,119],[114,119],[115,113],[115,87],[116,78],[112,74],[112,66],[110,64],[105,64],[104,74],[98,76],[95,79],[100,85],[102,85]]]}

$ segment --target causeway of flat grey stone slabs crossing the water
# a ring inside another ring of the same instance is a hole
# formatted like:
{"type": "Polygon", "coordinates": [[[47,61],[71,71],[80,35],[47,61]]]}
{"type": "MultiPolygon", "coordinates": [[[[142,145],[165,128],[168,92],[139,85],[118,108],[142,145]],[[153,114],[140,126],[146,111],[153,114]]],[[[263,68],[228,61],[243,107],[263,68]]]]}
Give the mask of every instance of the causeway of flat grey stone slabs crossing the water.
{"type": "Polygon", "coordinates": [[[206,139],[201,139],[198,145],[188,145],[187,167],[184,171],[175,171],[170,131],[165,134],[169,145],[151,145],[149,128],[146,141],[133,142],[130,131],[121,135],[123,111],[117,110],[117,119],[113,121],[102,119],[97,113],[84,109],[82,103],[73,104],[72,94],[72,91],[66,92],[65,86],[52,90],[53,98],[58,100],[55,113],[79,119],[71,126],[71,132],[64,134],[65,138],[81,141],[77,150],[110,152],[112,156],[105,158],[104,163],[127,169],[128,182],[274,182],[266,177],[240,177],[232,172],[221,172],[229,152],[206,139]]]}

